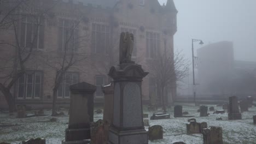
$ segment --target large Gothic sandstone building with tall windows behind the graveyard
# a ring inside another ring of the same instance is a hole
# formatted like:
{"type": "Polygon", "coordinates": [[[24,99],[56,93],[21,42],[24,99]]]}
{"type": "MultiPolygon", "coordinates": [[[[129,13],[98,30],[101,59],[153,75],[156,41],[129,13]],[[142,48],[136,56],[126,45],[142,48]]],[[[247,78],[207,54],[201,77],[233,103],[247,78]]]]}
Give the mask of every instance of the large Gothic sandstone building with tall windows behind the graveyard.
{"type": "MultiPolygon", "coordinates": [[[[109,84],[108,70],[110,66],[118,64],[121,32],[128,31],[134,34],[132,59],[142,64],[149,73],[150,69],[147,69],[147,65],[150,59],[155,58],[156,52],[163,49],[164,39],[167,40],[167,49],[173,55],[173,35],[177,31],[177,10],[173,0],[168,0],[164,6],[156,0],[63,0],[61,2],[40,0],[31,3],[34,7],[28,11],[32,14],[20,9],[19,13],[22,16],[16,29],[21,47],[26,48],[30,45],[33,34],[36,35],[36,43],[33,43],[34,53],[26,62],[28,71],[12,89],[16,104],[51,106],[57,72],[47,63],[58,65],[58,62],[50,56],[56,59],[61,57],[65,47],[74,49],[77,56],[86,53],[86,58],[79,64],[73,65],[63,76],[57,94],[59,105],[68,105],[69,86],[83,81],[97,86],[96,102],[103,100],[101,85],[109,84]],[[34,14],[45,7],[51,9],[48,9],[44,15],[34,14]],[[37,30],[32,19],[40,21],[37,30]],[[67,43],[65,40],[71,35],[71,27],[74,31],[71,40],[67,43]]],[[[4,34],[0,35],[0,40],[14,44],[13,29],[5,29],[4,34]]],[[[15,54],[14,49],[11,47],[6,49],[6,47],[8,46],[0,45],[0,55],[3,59],[15,54]]],[[[1,60],[0,63],[4,65],[5,61],[1,60]]],[[[5,79],[1,79],[1,82],[3,81],[5,79]]],[[[148,75],[143,81],[142,89],[143,101],[147,102],[149,95],[155,91],[154,77],[148,75]]],[[[174,95],[176,95],[176,87],[170,89],[168,102],[171,103],[174,95]]],[[[6,107],[2,93],[0,93],[1,107],[6,107]]]]}

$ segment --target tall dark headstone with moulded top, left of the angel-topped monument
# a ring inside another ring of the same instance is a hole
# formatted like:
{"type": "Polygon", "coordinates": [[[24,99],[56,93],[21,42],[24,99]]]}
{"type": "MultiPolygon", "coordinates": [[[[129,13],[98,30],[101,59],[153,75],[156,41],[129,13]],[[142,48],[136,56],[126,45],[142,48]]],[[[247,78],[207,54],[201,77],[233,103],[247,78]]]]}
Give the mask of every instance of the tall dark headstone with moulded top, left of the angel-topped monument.
{"type": "Polygon", "coordinates": [[[70,86],[71,102],[65,142],[86,143],[91,138],[90,123],[94,121],[94,92],[96,86],[81,82],[70,86]]]}

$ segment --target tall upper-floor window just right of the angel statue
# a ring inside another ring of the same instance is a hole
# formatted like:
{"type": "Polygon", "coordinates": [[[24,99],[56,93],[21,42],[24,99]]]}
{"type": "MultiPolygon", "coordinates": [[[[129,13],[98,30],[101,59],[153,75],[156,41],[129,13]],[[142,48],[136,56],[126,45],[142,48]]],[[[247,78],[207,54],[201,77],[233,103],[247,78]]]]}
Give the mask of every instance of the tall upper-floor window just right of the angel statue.
{"type": "Polygon", "coordinates": [[[160,47],[159,33],[146,32],[147,57],[156,58],[156,54],[160,47]]]}

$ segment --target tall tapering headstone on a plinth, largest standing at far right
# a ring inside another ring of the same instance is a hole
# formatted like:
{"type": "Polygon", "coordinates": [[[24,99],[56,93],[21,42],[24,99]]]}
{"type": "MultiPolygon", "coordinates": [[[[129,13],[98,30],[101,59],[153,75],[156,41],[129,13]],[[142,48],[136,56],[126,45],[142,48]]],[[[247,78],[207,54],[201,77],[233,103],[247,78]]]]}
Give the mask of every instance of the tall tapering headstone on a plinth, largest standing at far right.
{"type": "Polygon", "coordinates": [[[229,97],[229,120],[242,119],[242,115],[239,112],[237,97],[229,97]]]}

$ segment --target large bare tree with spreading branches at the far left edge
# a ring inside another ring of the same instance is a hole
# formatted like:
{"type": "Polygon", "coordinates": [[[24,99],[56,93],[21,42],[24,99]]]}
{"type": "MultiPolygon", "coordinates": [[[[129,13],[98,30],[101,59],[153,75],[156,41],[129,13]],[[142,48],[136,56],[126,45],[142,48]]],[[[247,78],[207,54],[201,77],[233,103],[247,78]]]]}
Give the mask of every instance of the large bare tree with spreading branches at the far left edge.
{"type": "MultiPolygon", "coordinates": [[[[35,7],[35,2],[32,0],[12,0],[1,1],[0,13],[0,31],[4,34],[10,34],[10,39],[1,38],[0,48],[4,51],[1,56],[1,83],[0,91],[4,94],[9,106],[9,113],[15,110],[15,97],[11,89],[21,76],[27,72],[27,62],[33,55],[33,49],[38,39],[37,33],[31,33],[31,40],[27,40],[26,44],[20,40],[20,23],[26,19],[25,16],[30,16],[33,23],[34,31],[39,31],[39,26],[43,25],[42,17],[54,5],[45,7],[40,10],[32,9],[35,7]],[[5,56],[4,53],[8,53],[5,56]]],[[[49,6],[49,5],[48,5],[49,6]]],[[[4,35],[3,34],[3,35],[4,35]]],[[[2,36],[3,36],[2,35],[2,36]]]]}

